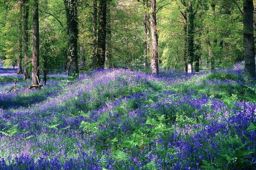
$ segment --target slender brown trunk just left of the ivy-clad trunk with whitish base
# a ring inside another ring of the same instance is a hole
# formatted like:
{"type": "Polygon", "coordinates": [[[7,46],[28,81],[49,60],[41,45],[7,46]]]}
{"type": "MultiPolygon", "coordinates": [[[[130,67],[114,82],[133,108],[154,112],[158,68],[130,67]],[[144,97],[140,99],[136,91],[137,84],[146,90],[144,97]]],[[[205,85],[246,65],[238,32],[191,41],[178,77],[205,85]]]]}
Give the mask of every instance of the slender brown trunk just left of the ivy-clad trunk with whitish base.
{"type": "Polygon", "coordinates": [[[188,71],[188,64],[187,64],[187,59],[186,59],[186,54],[187,54],[187,14],[186,10],[181,11],[181,14],[183,16],[183,72],[188,71]]]}

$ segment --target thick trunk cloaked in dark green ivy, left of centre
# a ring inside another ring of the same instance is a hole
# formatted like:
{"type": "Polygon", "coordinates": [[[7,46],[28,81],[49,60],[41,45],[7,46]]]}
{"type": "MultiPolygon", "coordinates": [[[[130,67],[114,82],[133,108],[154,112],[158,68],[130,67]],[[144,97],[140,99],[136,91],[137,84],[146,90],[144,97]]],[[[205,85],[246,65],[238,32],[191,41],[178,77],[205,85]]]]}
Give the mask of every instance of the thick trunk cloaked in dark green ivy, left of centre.
{"type": "Polygon", "coordinates": [[[78,40],[78,9],[77,0],[64,0],[67,16],[67,41],[68,41],[68,58],[69,58],[69,76],[78,76],[78,55],[77,55],[77,40],[78,40]]]}

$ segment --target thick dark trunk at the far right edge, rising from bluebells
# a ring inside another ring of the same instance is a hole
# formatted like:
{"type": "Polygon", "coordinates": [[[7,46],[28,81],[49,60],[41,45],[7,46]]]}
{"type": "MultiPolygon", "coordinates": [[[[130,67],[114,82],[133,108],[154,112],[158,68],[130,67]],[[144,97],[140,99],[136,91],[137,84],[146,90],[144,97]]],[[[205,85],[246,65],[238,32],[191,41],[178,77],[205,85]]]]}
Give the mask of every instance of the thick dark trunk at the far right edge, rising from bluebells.
{"type": "Polygon", "coordinates": [[[244,0],[244,72],[255,77],[255,46],[253,37],[253,0],[244,0]]]}

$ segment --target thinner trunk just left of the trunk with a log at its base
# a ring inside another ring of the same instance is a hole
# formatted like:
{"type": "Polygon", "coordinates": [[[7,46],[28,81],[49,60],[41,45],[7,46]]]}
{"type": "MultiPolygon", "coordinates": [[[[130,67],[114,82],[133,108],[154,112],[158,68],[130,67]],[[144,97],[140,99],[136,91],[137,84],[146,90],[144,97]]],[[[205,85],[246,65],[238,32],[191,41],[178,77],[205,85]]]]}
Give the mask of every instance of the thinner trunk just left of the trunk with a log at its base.
{"type": "Polygon", "coordinates": [[[29,4],[28,0],[22,1],[22,13],[23,13],[23,37],[24,37],[24,74],[23,79],[29,79],[30,74],[28,70],[28,42],[29,42],[29,32],[28,32],[28,20],[29,20],[29,4]]]}

